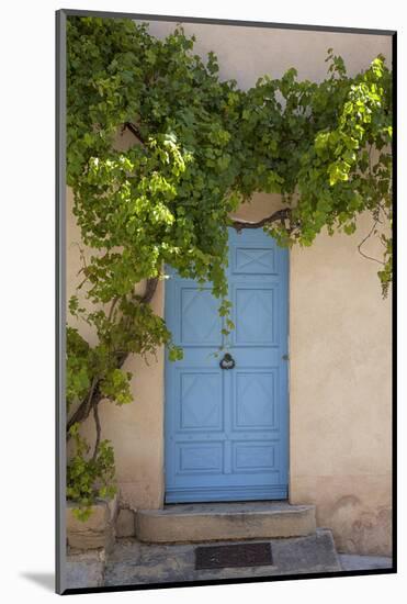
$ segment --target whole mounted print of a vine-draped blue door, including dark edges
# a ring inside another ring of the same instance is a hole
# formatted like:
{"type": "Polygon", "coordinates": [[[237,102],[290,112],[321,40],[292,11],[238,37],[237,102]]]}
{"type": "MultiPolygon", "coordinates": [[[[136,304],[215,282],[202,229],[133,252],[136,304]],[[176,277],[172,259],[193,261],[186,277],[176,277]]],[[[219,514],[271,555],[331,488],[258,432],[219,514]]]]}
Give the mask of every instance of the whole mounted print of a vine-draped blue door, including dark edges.
{"type": "Polygon", "coordinates": [[[396,32],[56,51],[57,593],[396,572],[396,32]]]}

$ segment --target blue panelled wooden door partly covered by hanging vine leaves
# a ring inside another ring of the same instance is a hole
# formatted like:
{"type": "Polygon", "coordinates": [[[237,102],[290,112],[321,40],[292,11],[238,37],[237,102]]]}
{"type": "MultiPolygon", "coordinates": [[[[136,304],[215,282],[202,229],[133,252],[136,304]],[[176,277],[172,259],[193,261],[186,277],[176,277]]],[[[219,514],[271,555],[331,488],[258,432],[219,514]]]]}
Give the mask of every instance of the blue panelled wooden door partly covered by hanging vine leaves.
{"type": "Polygon", "coordinates": [[[166,359],[166,502],[287,496],[287,250],[260,230],[229,230],[236,328],[224,343],[218,301],[168,269],[166,321],[183,347],[166,359]],[[233,369],[222,369],[227,351],[233,369]]]}

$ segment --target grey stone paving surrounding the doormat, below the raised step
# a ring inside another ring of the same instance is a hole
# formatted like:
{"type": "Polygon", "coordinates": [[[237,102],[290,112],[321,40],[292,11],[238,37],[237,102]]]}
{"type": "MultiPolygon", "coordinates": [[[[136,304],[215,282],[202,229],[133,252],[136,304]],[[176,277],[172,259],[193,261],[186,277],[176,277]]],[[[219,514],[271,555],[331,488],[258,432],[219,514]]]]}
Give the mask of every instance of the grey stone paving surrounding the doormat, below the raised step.
{"type": "MultiPolygon", "coordinates": [[[[195,570],[197,544],[149,545],[136,539],[120,539],[106,562],[103,550],[81,553],[71,549],[67,583],[69,588],[92,588],[392,568],[392,558],[338,556],[329,529],[317,529],[315,535],[307,537],[269,541],[273,566],[202,570],[195,570]]],[[[217,541],[217,545],[237,543],[245,541],[217,541]]],[[[213,541],[200,544],[205,545],[213,546],[213,541]]]]}

